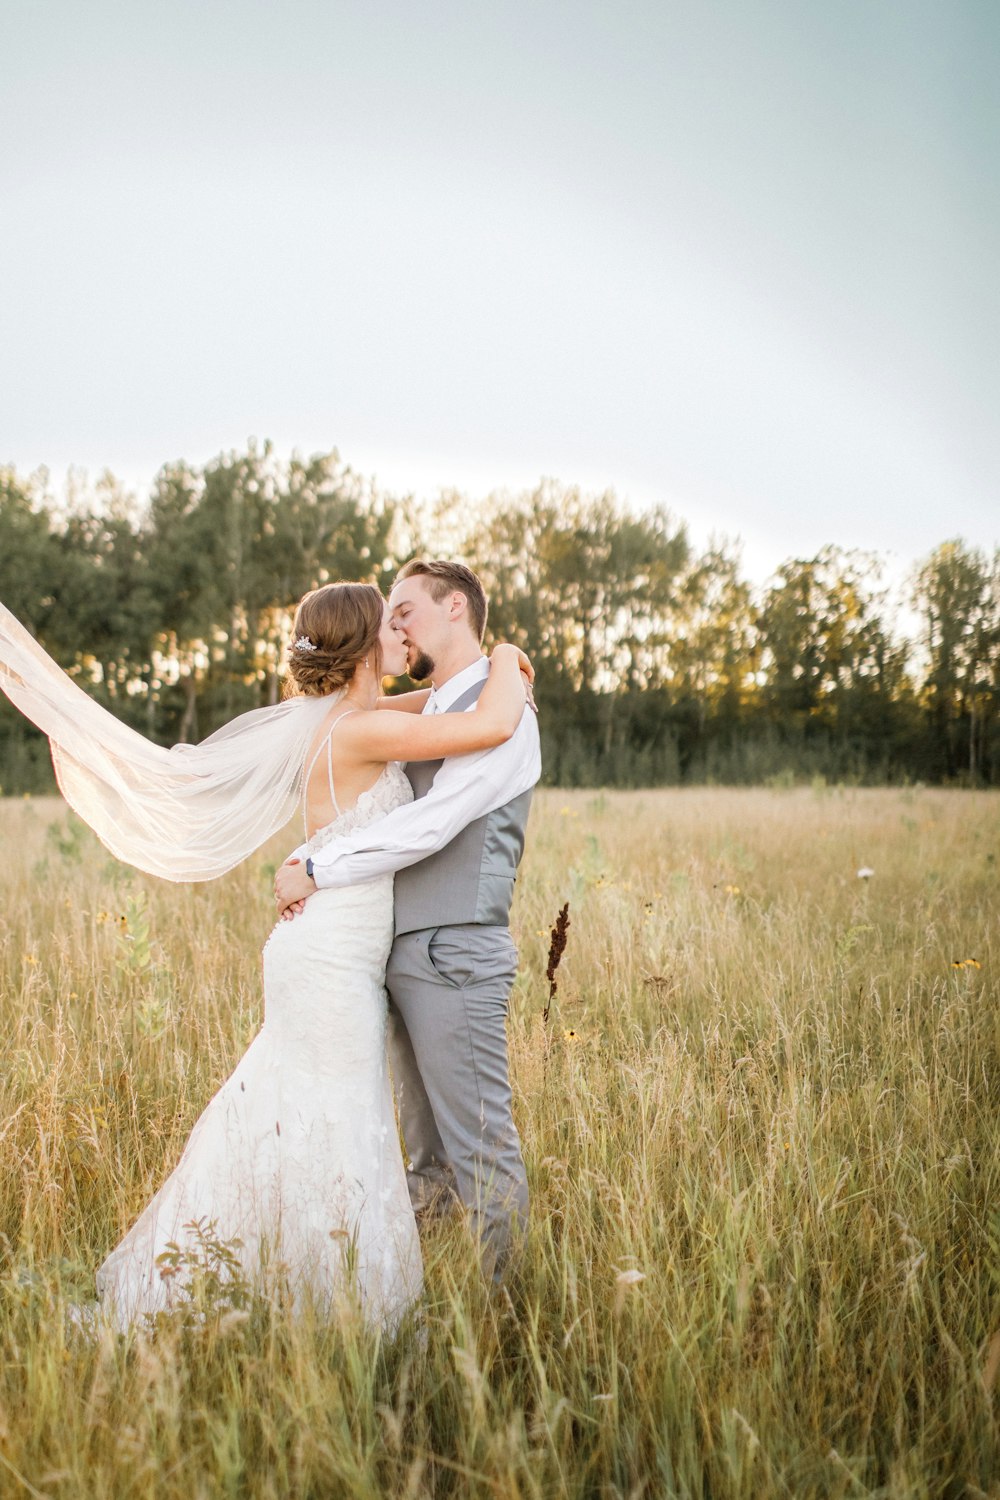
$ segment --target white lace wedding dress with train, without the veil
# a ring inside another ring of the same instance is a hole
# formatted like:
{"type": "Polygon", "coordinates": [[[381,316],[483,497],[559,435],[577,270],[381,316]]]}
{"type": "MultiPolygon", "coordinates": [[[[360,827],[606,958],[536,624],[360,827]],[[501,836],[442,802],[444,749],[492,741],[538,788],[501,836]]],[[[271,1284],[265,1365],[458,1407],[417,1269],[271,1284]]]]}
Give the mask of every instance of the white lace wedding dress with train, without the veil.
{"type": "MultiPolygon", "coordinates": [[[[388,765],[355,807],[307,852],[384,818],[412,796],[388,765]]],[[[336,802],[334,802],[336,806],[336,802]]],[[[240,1240],[241,1272],[265,1262],[297,1302],[333,1310],[358,1299],[393,1328],[421,1287],[420,1244],[396,1132],[385,1053],[385,960],[393,878],[321,890],[264,948],[264,1024],[195,1125],[184,1154],[97,1272],[97,1292],[124,1328],[183,1299],[184,1260],[165,1280],[171,1242],[196,1256],[186,1226],[240,1240]],[[178,1286],[178,1282],[181,1286],[178,1286]]]]}

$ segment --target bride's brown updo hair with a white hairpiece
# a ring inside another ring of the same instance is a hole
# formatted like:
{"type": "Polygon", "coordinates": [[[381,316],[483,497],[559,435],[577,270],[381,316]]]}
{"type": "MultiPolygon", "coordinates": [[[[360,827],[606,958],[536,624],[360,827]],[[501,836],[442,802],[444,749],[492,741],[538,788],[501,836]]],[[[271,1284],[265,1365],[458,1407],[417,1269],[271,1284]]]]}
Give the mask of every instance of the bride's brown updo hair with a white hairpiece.
{"type": "Polygon", "coordinates": [[[385,600],[375,584],[324,584],[304,594],[288,648],[288,692],[307,698],[336,693],[366,657],[381,676],[384,618],[385,600]]]}

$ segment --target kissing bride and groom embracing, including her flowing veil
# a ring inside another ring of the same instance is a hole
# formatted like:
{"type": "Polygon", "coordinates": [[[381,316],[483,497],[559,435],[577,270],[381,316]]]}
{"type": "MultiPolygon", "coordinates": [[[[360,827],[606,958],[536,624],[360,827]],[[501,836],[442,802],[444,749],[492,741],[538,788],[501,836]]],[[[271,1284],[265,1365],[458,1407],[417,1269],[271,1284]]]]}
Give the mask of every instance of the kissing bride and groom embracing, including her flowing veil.
{"type": "Polygon", "coordinates": [[[486,610],[459,562],[409,562],[388,602],[367,584],[318,588],[294,620],[292,696],[172,752],[70,698],[0,612],[0,686],[120,856],[169,879],[222,873],[273,831],[289,788],[301,795],[262,1028],[97,1272],[118,1326],[171,1305],[157,1260],[205,1221],[238,1242],[247,1281],[267,1260],[297,1304],[360,1302],[384,1328],[420,1296],[418,1220],[463,1206],[495,1281],[516,1254],[508,914],[540,752],[531,669],[516,646],[483,656],[486,610]],[[403,670],[430,688],[382,696],[403,670]]]}

